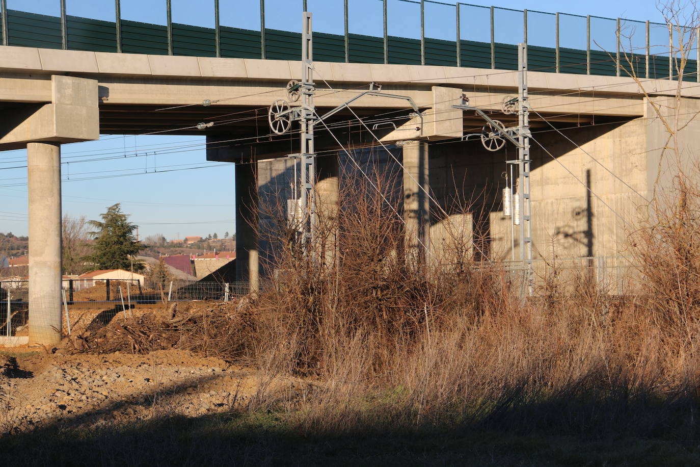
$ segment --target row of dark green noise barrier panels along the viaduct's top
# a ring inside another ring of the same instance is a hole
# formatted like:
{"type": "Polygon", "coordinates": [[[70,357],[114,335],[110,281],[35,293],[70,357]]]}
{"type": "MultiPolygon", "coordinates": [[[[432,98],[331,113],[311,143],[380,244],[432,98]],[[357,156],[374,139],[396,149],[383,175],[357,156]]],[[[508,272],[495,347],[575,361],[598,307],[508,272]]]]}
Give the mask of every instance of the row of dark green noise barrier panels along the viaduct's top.
{"type": "MultiPolygon", "coordinates": [[[[0,26],[1,27],[1,26],[0,26]]],[[[1,32],[1,30],[0,30],[1,32]]],[[[216,56],[216,30],[172,23],[172,53],[195,57],[216,56]]],[[[8,45],[62,48],[61,18],[38,15],[24,11],[7,11],[8,45]]],[[[69,50],[91,50],[95,52],[117,51],[116,22],[92,20],[79,16],[66,16],[66,46],[69,50]]],[[[167,55],[168,32],[164,25],[121,20],[121,44],[123,53],[167,55]]],[[[348,56],[345,55],[345,36],[314,32],[314,60],[322,62],[384,63],[384,38],[348,34],[348,56]]],[[[424,38],[424,61],[426,65],[455,67],[457,65],[457,43],[442,39],[424,38]]],[[[421,64],[421,41],[399,36],[388,36],[386,43],[391,64],[421,64]]],[[[219,27],[219,51],[221,57],[261,58],[260,31],[236,27],[219,27]]],[[[493,62],[496,69],[517,69],[518,53],[514,44],[493,44],[493,62]]],[[[459,41],[462,67],[491,68],[491,43],[459,41]]],[[[297,32],[265,29],[265,57],[271,60],[300,60],[301,34],[297,32]]],[[[620,76],[629,76],[626,70],[633,67],[636,76],[645,78],[645,55],[630,55],[631,64],[624,54],[620,64],[620,76]]],[[[673,65],[673,74],[678,74],[673,65]]],[[[590,72],[594,75],[615,76],[615,53],[602,50],[590,51],[590,72]]],[[[533,71],[556,71],[556,49],[553,47],[528,46],[528,69],[533,71]]],[[[559,48],[559,71],[570,74],[586,74],[587,53],[585,50],[559,48]]],[[[685,81],[697,81],[696,60],[688,60],[684,70],[685,81]]],[[[649,77],[668,78],[668,55],[649,57],[649,77]]]]}

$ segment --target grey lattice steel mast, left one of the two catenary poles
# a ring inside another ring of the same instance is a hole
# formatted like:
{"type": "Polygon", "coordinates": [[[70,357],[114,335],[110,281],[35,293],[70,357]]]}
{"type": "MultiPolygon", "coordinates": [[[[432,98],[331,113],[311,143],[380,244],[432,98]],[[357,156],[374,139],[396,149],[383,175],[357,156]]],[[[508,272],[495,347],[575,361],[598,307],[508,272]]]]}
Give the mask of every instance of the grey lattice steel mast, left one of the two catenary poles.
{"type": "Polygon", "coordinates": [[[302,15],[302,106],[301,124],[301,209],[304,212],[302,227],[303,242],[307,254],[313,248],[314,228],[316,225],[316,196],[314,195],[314,177],[316,176],[316,152],[314,149],[314,123],[316,107],[314,106],[314,55],[311,13],[302,15]]]}

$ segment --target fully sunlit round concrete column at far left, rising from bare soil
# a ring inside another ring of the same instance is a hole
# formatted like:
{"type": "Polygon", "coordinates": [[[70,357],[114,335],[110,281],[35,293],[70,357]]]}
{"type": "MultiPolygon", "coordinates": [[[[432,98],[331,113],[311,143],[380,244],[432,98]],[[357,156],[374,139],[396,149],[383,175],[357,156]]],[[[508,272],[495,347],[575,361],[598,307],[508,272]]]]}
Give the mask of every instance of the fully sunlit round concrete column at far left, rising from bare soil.
{"type": "Polygon", "coordinates": [[[29,345],[61,340],[61,146],[28,143],[29,345]]]}

